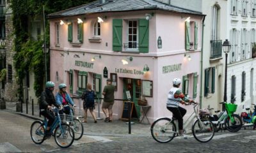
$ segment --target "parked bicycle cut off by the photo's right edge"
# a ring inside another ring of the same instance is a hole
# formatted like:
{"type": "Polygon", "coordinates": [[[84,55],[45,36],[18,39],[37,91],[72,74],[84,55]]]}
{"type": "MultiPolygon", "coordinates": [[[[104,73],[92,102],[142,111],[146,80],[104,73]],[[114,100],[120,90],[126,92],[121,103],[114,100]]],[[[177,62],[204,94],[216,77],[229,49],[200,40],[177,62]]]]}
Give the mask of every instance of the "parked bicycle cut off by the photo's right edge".
{"type": "Polygon", "coordinates": [[[244,122],[244,129],[246,129],[246,126],[253,126],[253,129],[256,128],[256,105],[252,104],[254,106],[254,111],[251,113],[250,108],[245,108],[246,112],[241,113],[241,118],[244,122]]]}

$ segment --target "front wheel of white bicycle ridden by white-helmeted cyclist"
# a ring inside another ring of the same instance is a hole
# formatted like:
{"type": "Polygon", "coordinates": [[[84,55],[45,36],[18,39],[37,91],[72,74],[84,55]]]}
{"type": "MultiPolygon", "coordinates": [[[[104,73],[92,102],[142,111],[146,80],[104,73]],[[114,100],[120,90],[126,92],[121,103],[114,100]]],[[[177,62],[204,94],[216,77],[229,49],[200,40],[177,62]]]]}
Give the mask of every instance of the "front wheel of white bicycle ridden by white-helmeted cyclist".
{"type": "Polygon", "coordinates": [[[192,126],[192,133],[198,142],[209,142],[214,136],[214,124],[209,119],[197,119],[192,126]]]}

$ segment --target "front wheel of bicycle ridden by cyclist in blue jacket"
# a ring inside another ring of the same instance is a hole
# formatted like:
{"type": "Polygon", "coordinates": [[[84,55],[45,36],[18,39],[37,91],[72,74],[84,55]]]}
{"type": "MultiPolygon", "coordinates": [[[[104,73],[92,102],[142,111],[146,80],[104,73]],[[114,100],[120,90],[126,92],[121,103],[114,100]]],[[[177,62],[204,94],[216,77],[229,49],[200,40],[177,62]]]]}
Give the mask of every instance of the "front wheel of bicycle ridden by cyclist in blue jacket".
{"type": "Polygon", "coordinates": [[[73,119],[70,123],[71,123],[70,126],[71,128],[73,128],[75,133],[74,139],[75,140],[81,139],[84,134],[84,126],[82,122],[79,119],[73,119]]]}

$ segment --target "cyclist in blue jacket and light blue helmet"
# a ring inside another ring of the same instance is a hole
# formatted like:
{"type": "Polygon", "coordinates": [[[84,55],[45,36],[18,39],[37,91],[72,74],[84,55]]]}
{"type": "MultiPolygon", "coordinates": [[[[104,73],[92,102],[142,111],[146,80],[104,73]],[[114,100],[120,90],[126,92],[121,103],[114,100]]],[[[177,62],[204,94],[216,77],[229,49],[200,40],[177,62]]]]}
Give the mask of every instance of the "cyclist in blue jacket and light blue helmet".
{"type": "Polygon", "coordinates": [[[58,103],[58,105],[63,105],[64,108],[60,110],[60,115],[61,115],[61,119],[63,119],[63,113],[65,114],[70,114],[71,108],[69,105],[71,106],[76,106],[74,105],[74,102],[72,101],[72,99],[70,98],[68,92],[67,92],[67,85],[66,84],[60,84],[59,85],[59,89],[60,91],[57,92],[55,98],[56,98],[56,102],[58,103]]]}

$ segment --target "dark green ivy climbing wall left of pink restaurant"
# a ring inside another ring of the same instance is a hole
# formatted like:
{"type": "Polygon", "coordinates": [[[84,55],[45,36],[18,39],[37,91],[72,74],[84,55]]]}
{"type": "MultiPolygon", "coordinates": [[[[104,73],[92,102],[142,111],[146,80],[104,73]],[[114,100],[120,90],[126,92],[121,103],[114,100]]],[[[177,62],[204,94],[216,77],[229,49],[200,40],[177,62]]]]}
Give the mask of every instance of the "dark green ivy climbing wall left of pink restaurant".
{"type": "MultiPolygon", "coordinates": [[[[26,76],[26,72],[33,71],[35,73],[34,89],[36,96],[40,96],[40,93],[44,87],[45,77],[45,61],[44,52],[42,51],[42,44],[44,41],[39,39],[33,40],[29,35],[28,23],[33,22],[35,18],[43,17],[43,6],[45,10],[45,17],[49,13],[65,10],[81,4],[92,2],[93,0],[11,0],[11,8],[13,12],[13,35],[14,50],[16,52],[14,56],[14,66],[17,72],[19,94],[22,96],[22,80],[26,76]]],[[[45,36],[46,43],[49,46],[49,21],[45,21],[45,36]]],[[[49,55],[47,55],[47,66],[49,66],[49,55]]],[[[49,68],[47,68],[49,70],[49,68]]],[[[49,71],[47,72],[49,74],[49,71]]]]}

